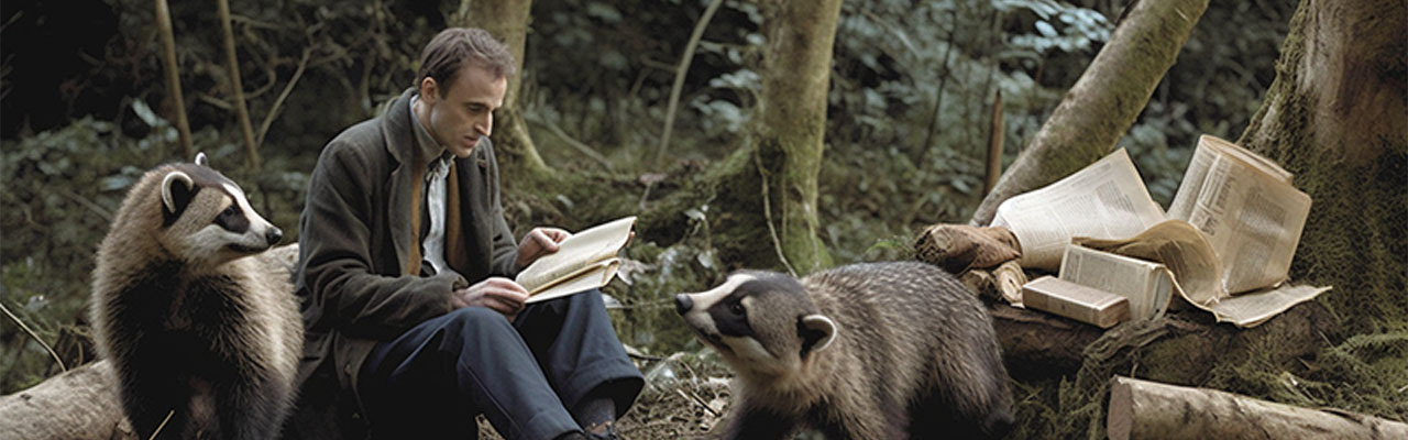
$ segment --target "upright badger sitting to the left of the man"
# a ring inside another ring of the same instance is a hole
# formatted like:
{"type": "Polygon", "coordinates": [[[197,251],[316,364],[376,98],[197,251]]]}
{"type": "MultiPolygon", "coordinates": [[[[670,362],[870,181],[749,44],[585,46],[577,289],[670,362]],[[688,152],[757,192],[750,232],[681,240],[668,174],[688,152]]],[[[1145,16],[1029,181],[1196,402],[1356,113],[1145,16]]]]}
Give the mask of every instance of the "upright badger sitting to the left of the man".
{"type": "Polygon", "coordinates": [[[141,439],[279,436],[303,353],[289,267],[262,258],[282,237],[204,154],[122,199],[90,320],[141,439]]]}

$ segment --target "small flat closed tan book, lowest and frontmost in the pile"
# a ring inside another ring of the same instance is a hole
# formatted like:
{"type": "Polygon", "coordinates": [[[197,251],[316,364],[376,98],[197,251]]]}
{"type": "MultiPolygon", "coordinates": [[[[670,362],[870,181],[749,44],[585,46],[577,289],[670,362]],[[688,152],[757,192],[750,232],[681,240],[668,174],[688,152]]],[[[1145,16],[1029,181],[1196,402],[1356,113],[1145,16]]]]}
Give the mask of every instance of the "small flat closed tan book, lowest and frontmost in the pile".
{"type": "Polygon", "coordinates": [[[1070,317],[1101,329],[1110,329],[1129,320],[1129,300],[1124,296],[1050,275],[1022,285],[1022,303],[1031,309],[1070,317]]]}

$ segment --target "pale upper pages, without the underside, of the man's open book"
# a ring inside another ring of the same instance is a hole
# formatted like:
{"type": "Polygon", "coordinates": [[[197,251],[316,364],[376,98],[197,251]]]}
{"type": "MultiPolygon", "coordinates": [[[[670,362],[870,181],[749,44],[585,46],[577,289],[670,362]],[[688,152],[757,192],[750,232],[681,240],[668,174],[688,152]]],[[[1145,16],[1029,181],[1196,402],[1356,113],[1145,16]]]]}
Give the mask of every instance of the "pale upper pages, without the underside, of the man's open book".
{"type": "Polygon", "coordinates": [[[514,281],[531,293],[580,272],[589,265],[610,259],[631,240],[632,226],[635,226],[635,216],[603,223],[573,234],[558,244],[556,252],[538,258],[518,272],[514,281]]]}

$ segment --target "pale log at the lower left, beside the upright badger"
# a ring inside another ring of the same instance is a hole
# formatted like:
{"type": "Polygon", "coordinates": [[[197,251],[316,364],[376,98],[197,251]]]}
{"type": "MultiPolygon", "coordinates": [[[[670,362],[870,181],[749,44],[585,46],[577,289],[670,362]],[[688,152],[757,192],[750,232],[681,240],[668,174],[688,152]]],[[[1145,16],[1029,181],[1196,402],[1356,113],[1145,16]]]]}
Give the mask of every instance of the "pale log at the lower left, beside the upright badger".
{"type": "Polygon", "coordinates": [[[0,439],[137,439],[117,399],[113,365],[97,361],[0,396],[0,439]]]}

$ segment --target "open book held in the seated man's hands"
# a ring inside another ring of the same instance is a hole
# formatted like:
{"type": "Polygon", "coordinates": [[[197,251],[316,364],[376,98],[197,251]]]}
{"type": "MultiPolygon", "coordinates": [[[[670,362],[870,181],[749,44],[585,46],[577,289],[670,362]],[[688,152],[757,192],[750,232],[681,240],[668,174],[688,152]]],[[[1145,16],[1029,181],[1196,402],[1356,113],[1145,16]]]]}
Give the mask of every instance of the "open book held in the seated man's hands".
{"type": "Polygon", "coordinates": [[[631,240],[635,217],[603,223],[558,244],[558,251],[534,261],[514,281],[528,289],[529,303],[596,289],[611,282],[631,240]]]}

